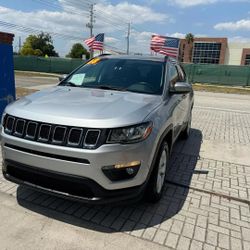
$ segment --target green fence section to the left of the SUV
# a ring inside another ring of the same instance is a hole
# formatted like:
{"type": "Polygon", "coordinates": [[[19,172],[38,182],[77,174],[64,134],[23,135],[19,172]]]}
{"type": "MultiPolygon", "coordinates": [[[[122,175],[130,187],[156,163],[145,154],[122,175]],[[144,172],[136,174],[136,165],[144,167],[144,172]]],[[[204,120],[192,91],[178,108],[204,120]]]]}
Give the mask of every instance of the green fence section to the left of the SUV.
{"type": "Polygon", "coordinates": [[[83,63],[80,59],[14,56],[15,70],[68,74],[83,63]]]}

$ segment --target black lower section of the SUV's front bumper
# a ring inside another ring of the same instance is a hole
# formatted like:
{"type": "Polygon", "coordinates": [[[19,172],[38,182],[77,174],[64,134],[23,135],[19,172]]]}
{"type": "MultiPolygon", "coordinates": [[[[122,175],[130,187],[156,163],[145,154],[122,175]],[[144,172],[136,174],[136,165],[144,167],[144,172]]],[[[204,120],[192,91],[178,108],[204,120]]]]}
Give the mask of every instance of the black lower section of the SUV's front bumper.
{"type": "Polygon", "coordinates": [[[3,175],[9,181],[90,204],[134,201],[142,197],[146,187],[145,183],[133,188],[110,191],[88,178],[42,170],[9,160],[5,160],[3,164],[3,175]]]}

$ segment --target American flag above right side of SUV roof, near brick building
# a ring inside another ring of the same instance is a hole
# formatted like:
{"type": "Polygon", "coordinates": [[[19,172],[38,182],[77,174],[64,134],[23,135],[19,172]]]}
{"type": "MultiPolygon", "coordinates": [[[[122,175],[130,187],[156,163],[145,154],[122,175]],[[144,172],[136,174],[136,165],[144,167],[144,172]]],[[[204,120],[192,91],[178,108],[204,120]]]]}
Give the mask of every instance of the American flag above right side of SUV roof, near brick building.
{"type": "Polygon", "coordinates": [[[180,39],[164,36],[152,36],[151,50],[171,57],[179,55],[180,39]],[[153,45],[153,46],[152,46],[153,45]]]}

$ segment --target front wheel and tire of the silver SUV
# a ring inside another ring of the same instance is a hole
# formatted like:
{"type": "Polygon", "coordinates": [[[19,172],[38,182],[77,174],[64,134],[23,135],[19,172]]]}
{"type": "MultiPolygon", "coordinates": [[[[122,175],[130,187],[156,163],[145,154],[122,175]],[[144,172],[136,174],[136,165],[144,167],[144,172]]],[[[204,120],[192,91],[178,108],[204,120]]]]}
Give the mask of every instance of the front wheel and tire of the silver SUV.
{"type": "Polygon", "coordinates": [[[146,200],[151,203],[158,202],[162,197],[168,162],[169,147],[167,142],[163,142],[158,152],[156,163],[145,193],[146,200]]]}

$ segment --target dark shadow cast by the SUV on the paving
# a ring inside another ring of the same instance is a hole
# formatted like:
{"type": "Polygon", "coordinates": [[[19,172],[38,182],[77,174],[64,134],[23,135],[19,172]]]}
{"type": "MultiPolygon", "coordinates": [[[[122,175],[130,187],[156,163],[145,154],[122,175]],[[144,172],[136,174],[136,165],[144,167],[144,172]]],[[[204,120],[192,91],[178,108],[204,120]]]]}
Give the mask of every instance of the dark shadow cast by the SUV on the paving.
{"type": "Polygon", "coordinates": [[[43,194],[19,186],[17,201],[26,209],[68,224],[101,232],[125,232],[149,227],[167,227],[168,219],[189,202],[187,199],[202,143],[200,130],[192,129],[188,140],[178,140],[173,148],[162,199],[119,205],[86,205],[78,201],[43,194]]]}

